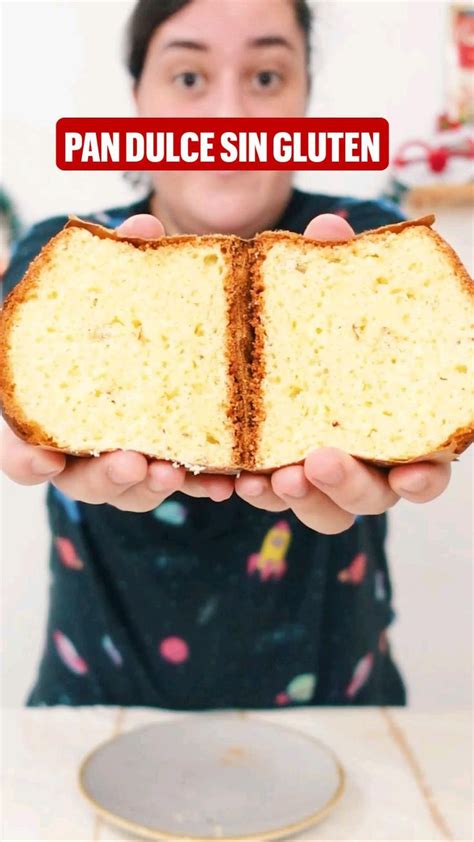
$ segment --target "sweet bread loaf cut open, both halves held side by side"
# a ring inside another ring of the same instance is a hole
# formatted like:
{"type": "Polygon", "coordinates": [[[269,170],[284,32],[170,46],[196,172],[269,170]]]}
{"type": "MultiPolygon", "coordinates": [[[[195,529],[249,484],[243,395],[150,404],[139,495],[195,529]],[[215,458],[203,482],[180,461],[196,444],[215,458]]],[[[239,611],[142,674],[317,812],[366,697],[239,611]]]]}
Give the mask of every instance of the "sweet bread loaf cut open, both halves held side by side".
{"type": "Polygon", "coordinates": [[[474,440],[473,283],[433,217],[348,242],[119,238],[72,219],[7,297],[5,417],[78,455],[271,471],[474,440]]]}

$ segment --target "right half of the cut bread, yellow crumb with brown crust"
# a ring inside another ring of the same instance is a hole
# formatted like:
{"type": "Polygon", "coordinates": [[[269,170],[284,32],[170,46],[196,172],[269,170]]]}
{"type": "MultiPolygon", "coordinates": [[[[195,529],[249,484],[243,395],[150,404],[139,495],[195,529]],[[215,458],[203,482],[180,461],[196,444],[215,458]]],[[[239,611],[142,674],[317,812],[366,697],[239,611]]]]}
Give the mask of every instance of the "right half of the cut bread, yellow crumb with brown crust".
{"type": "Polygon", "coordinates": [[[429,225],[264,234],[252,267],[261,468],[323,445],[389,463],[472,440],[473,284],[429,225]]]}

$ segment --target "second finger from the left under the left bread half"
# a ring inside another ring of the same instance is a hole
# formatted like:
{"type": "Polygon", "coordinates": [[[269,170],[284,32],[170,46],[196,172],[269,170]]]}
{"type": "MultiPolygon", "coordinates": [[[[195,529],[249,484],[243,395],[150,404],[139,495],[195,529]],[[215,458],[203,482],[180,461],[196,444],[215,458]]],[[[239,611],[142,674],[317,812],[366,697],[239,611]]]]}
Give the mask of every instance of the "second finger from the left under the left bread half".
{"type": "Polygon", "coordinates": [[[111,503],[127,488],[141,482],[147,460],[133,451],[114,451],[98,457],[73,457],[54,485],[83,503],[111,503]]]}

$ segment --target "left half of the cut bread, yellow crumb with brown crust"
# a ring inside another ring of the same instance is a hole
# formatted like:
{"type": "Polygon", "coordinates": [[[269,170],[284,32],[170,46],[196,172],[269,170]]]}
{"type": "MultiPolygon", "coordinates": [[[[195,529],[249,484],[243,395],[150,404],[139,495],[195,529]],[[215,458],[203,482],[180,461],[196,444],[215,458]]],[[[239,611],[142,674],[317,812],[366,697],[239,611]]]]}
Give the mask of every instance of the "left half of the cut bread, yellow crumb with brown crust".
{"type": "Polygon", "coordinates": [[[3,403],[20,434],[79,454],[240,465],[235,251],[229,237],[63,230],[5,308],[3,403]]]}

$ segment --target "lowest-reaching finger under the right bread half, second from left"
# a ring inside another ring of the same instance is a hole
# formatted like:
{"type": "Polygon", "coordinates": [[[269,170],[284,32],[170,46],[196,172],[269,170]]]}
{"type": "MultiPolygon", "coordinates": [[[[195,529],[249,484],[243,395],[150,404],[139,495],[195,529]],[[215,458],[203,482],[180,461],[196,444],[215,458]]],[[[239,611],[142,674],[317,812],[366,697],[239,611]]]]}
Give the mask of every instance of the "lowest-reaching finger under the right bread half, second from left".
{"type": "Polygon", "coordinates": [[[354,515],[341,509],[326,494],[314,488],[304,476],[303,467],[303,476],[297,481],[294,467],[275,471],[272,486],[275,493],[288,502],[298,520],[324,535],[335,535],[349,529],[354,523],[354,515]]]}

